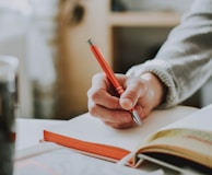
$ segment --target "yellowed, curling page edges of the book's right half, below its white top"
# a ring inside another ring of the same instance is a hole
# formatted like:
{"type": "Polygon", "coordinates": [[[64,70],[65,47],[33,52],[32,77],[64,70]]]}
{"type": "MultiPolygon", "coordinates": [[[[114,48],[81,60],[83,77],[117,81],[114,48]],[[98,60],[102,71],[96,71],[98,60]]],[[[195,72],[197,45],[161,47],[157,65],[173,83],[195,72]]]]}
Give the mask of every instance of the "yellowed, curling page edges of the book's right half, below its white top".
{"type": "Polygon", "coordinates": [[[155,152],[177,155],[212,168],[212,132],[191,129],[162,130],[138,150],[138,153],[155,152]]]}

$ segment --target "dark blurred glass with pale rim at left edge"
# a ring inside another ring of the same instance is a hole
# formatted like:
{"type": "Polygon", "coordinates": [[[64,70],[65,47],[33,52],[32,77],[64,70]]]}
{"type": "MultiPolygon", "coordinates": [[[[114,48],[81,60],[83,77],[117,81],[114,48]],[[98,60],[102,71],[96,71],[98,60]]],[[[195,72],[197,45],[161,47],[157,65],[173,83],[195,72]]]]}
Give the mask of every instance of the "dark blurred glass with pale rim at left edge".
{"type": "Polygon", "coordinates": [[[15,110],[17,106],[14,57],[0,56],[0,174],[13,174],[15,142],[15,110]]]}

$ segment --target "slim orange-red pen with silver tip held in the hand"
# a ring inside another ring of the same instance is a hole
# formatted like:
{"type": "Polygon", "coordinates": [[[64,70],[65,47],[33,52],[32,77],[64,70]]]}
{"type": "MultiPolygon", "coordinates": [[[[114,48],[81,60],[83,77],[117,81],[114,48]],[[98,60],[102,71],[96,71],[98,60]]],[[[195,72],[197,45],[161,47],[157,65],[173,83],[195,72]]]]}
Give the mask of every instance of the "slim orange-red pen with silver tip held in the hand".
{"type": "MultiPolygon", "coordinates": [[[[99,66],[102,67],[102,69],[106,73],[107,79],[114,85],[114,88],[116,89],[118,94],[121,95],[123,93],[123,88],[119,84],[118,80],[116,79],[116,77],[114,74],[114,71],[111,70],[109,65],[106,62],[104,56],[102,55],[102,52],[99,51],[97,46],[93,44],[91,38],[87,40],[87,43],[90,44],[91,50],[94,54],[95,58],[97,59],[99,66]]],[[[140,119],[137,110],[134,108],[132,108],[132,109],[130,109],[130,113],[132,114],[132,118],[136,121],[136,124],[141,126],[142,122],[141,122],[141,119],[140,119]]]]}

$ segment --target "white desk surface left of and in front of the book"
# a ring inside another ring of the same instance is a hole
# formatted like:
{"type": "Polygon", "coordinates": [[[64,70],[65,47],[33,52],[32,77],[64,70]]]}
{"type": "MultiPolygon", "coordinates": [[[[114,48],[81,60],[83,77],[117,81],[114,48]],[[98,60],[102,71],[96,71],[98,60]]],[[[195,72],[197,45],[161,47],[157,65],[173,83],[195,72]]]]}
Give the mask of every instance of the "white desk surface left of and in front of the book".
{"type": "MultiPolygon", "coordinates": [[[[43,129],[66,120],[16,119],[15,154],[40,151],[43,129]],[[28,151],[31,150],[31,151],[28,151]]],[[[52,143],[55,144],[55,143],[52,143]]],[[[56,144],[55,144],[56,145],[56,144]]],[[[163,175],[163,171],[137,170],[90,158],[71,149],[56,145],[52,151],[15,161],[14,175],[163,175]]]]}

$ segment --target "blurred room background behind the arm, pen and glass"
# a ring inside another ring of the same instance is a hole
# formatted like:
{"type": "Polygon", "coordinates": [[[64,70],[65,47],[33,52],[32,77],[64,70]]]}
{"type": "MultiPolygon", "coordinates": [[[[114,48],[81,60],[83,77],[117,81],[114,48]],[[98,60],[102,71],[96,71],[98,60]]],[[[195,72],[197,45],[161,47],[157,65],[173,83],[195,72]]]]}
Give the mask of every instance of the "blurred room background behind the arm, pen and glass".
{"type": "MultiPolygon", "coordinates": [[[[0,0],[0,55],[17,57],[20,117],[69,119],[87,112],[102,71],[93,38],[115,72],[152,59],[192,0],[0,0]]],[[[184,104],[201,107],[211,85],[184,104]]]]}

